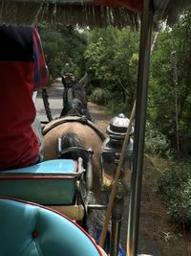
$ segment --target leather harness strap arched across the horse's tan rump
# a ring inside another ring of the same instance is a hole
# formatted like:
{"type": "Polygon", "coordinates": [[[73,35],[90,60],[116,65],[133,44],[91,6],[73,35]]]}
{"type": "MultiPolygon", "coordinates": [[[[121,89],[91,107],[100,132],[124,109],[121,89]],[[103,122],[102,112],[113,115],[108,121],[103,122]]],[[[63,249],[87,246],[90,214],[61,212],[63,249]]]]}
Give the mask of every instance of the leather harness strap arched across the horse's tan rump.
{"type": "MultiPolygon", "coordinates": [[[[55,120],[53,120],[53,121],[55,121],[55,120]]],[[[96,134],[99,136],[101,141],[105,140],[105,136],[103,135],[103,133],[98,128],[96,128],[96,126],[92,122],[90,122],[85,116],[82,116],[82,117],[67,116],[64,118],[59,118],[59,119],[57,119],[57,122],[53,123],[53,125],[49,126],[48,128],[46,128],[46,126],[43,128],[43,135],[47,134],[51,129],[53,129],[59,125],[62,125],[65,123],[73,123],[73,122],[78,122],[78,123],[87,125],[88,127],[92,128],[96,131],[96,134]]]]}

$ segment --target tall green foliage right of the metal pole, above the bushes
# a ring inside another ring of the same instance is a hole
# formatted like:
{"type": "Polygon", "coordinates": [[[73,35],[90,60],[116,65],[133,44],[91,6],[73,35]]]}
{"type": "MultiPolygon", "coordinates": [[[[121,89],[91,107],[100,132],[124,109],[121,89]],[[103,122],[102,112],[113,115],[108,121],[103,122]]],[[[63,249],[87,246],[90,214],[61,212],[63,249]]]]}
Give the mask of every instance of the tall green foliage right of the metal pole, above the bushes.
{"type": "Polygon", "coordinates": [[[149,90],[148,119],[154,128],[158,128],[167,137],[173,148],[177,147],[177,107],[180,151],[183,154],[191,153],[190,22],[191,12],[186,12],[172,30],[166,28],[161,33],[152,58],[149,90]],[[175,83],[176,72],[177,84],[175,83]]]}

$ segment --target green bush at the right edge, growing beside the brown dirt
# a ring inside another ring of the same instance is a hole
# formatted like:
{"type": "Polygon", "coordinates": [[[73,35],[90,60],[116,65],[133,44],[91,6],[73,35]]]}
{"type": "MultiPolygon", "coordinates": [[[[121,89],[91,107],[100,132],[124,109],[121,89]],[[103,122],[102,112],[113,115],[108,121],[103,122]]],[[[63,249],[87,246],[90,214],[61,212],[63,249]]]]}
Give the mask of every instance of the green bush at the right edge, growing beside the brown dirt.
{"type": "Polygon", "coordinates": [[[176,223],[191,227],[191,163],[173,164],[159,179],[159,191],[176,223]]]}

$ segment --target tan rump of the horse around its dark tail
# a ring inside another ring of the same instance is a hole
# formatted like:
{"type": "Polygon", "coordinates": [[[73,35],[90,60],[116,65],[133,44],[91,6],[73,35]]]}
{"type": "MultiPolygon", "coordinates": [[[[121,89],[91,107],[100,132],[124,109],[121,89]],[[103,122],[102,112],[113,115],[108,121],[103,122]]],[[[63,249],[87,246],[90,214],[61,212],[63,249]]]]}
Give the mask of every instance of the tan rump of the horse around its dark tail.
{"type": "MultiPolygon", "coordinates": [[[[101,146],[104,139],[103,134],[96,128],[95,124],[90,121],[84,121],[79,117],[66,117],[53,120],[44,128],[44,159],[56,159],[57,155],[57,142],[66,134],[74,134],[79,138],[84,149],[92,149],[93,154],[93,174],[94,184],[93,190],[98,193],[99,186],[99,156],[101,146]],[[88,123],[87,123],[88,122],[88,123]],[[89,124],[89,125],[88,125],[89,124]],[[92,126],[92,127],[91,127],[92,126]],[[96,132],[97,129],[97,132],[96,132]],[[101,136],[102,135],[102,136],[101,136]]],[[[71,145],[76,146],[76,145],[71,145]]]]}

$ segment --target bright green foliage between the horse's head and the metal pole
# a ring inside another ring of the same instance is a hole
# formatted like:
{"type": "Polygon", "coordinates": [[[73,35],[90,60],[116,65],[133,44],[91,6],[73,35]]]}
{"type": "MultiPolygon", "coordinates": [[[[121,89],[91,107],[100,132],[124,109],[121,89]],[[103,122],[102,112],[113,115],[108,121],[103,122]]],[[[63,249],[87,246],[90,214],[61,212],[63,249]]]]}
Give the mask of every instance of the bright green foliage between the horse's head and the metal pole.
{"type": "MultiPolygon", "coordinates": [[[[122,104],[120,111],[127,113],[133,105],[136,91],[138,33],[129,28],[118,30],[109,26],[90,31],[87,40],[85,60],[92,90],[98,92],[97,88],[101,89],[102,97],[107,97],[101,101],[108,103],[108,108],[114,113],[119,110],[118,104],[122,104]]],[[[92,100],[96,102],[94,95],[92,100]]]]}

